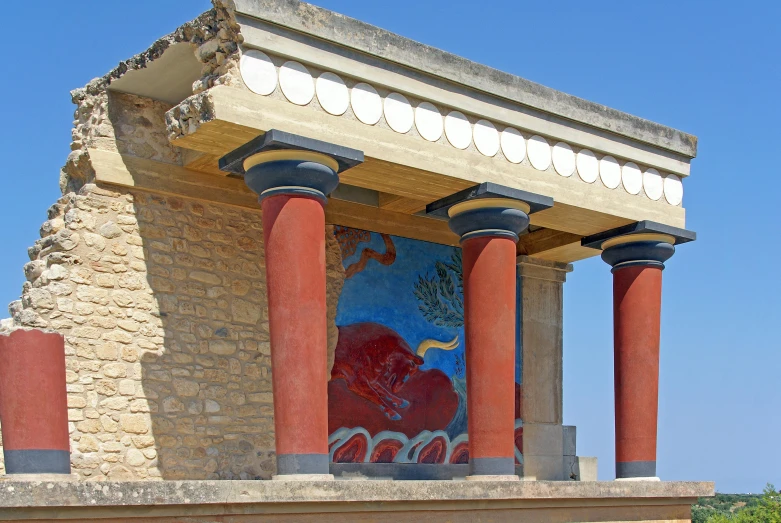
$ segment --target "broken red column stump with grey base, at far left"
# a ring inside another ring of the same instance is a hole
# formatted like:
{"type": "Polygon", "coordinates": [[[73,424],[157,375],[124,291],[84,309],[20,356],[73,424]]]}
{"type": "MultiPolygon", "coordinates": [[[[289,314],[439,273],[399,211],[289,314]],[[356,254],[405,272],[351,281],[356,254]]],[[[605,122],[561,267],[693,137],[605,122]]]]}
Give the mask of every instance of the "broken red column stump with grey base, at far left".
{"type": "Polygon", "coordinates": [[[0,336],[0,424],[7,474],[70,474],[60,334],[19,329],[0,336]]]}

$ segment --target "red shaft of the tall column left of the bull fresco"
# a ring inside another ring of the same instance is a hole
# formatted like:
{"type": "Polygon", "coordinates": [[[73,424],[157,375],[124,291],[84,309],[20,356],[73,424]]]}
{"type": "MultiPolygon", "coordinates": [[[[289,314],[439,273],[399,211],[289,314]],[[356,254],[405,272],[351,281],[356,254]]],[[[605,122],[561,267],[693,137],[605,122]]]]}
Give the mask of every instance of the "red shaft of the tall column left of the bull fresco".
{"type": "Polygon", "coordinates": [[[325,211],[262,201],[277,455],[328,454],[325,211]]]}

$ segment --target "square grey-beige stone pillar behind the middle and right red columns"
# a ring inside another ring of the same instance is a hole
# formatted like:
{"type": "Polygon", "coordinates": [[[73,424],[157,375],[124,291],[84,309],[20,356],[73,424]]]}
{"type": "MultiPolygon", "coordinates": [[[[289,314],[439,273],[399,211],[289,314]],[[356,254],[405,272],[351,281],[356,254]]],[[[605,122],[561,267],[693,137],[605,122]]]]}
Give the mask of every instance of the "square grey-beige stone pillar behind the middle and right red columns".
{"type": "Polygon", "coordinates": [[[564,282],[572,265],[519,256],[523,476],[564,480],[564,282]]]}

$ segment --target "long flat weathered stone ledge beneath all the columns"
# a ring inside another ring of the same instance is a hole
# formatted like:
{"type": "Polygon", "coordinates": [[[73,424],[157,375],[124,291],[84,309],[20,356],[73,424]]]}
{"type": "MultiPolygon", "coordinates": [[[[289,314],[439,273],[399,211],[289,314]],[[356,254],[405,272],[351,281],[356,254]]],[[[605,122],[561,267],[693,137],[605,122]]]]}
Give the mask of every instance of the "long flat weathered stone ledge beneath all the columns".
{"type": "Polygon", "coordinates": [[[712,496],[711,482],[566,481],[0,481],[0,510],[308,503],[675,500],[712,496]]]}

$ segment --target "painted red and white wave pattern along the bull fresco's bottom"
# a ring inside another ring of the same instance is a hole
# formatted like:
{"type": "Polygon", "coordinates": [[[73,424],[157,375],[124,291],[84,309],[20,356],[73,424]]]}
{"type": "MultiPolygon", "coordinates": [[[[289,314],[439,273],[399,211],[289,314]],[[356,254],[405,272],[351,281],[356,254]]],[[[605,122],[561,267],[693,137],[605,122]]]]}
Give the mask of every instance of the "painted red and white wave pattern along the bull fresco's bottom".
{"type": "MultiPolygon", "coordinates": [[[[461,434],[450,439],[443,430],[424,430],[408,438],[385,430],[374,437],[362,427],[342,427],[328,438],[333,463],[469,463],[469,439],[461,434]]],[[[515,420],[515,461],[523,464],[523,421],[515,420]]]]}

